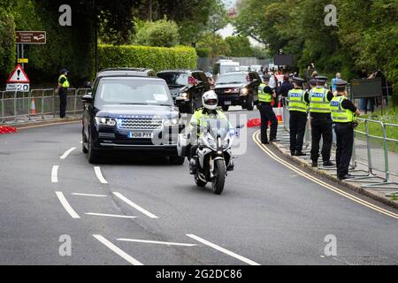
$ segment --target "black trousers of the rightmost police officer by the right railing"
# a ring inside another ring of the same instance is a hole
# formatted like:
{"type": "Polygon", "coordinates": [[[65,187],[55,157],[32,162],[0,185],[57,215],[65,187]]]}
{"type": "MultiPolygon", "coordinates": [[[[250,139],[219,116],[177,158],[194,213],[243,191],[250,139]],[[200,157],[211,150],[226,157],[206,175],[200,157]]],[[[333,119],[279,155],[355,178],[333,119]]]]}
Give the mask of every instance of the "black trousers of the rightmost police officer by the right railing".
{"type": "Polygon", "coordinates": [[[334,127],[337,137],[336,164],[338,177],[348,174],[348,166],[354,145],[354,127],[350,124],[336,123],[334,127]]]}

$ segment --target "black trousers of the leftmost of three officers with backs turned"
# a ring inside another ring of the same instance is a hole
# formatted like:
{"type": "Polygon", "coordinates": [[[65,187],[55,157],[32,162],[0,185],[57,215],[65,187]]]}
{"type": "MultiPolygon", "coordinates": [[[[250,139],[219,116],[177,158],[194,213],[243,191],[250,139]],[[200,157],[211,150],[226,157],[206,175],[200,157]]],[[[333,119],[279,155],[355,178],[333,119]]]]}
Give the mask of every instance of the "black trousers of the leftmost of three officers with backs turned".
{"type": "Polygon", "coordinates": [[[304,142],[305,126],[307,124],[307,113],[290,111],[290,151],[302,151],[304,142]]]}

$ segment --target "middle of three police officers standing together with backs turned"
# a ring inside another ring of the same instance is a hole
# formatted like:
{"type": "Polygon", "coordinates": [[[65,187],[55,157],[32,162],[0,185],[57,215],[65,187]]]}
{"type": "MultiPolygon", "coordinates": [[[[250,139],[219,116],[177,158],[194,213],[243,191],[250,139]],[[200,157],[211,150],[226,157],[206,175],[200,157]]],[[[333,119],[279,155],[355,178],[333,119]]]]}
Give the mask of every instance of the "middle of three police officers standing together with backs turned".
{"type": "Polygon", "coordinates": [[[310,93],[305,96],[305,101],[310,104],[312,167],[318,167],[321,137],[323,140],[322,159],[324,166],[334,166],[330,161],[333,140],[330,102],[333,99],[333,93],[325,88],[326,77],[317,76],[315,80],[317,80],[317,87],[312,88],[310,93]]]}

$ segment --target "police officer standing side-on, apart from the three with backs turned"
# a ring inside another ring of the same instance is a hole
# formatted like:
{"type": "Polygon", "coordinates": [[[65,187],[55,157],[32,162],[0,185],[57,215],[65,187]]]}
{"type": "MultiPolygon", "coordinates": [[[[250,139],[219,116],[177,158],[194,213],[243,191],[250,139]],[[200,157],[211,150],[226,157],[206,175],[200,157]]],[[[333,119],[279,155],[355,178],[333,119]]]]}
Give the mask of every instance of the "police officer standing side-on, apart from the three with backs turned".
{"type": "Polygon", "coordinates": [[[272,99],[276,98],[276,94],[270,86],[271,76],[268,74],[264,74],[264,83],[258,86],[258,110],[261,114],[261,142],[264,144],[269,144],[270,142],[279,142],[277,140],[277,132],[278,132],[278,119],[275,115],[275,112],[272,110],[272,99]],[[271,121],[271,131],[270,131],[270,140],[268,140],[267,129],[268,129],[268,121],[271,121]]]}

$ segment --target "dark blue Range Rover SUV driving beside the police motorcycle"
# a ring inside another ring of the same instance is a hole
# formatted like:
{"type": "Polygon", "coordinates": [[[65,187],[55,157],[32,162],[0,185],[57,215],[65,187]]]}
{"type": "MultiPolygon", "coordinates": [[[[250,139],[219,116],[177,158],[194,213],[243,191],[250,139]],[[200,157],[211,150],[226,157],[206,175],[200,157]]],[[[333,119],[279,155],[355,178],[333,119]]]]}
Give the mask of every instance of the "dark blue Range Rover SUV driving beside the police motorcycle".
{"type": "Polygon", "coordinates": [[[131,150],[159,153],[173,164],[178,157],[180,112],[172,102],[165,80],[136,71],[98,73],[84,103],[83,152],[98,163],[103,151],[131,150]]]}

